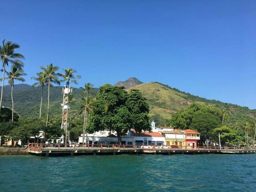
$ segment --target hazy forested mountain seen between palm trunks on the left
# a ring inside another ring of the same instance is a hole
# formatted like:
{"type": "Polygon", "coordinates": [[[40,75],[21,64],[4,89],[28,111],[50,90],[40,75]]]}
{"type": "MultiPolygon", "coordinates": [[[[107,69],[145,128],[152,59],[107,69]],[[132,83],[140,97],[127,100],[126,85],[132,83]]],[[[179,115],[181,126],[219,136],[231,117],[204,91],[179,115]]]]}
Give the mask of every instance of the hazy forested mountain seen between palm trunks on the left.
{"type": "MultiPolygon", "coordinates": [[[[10,86],[4,87],[4,98],[3,106],[11,108],[11,91],[10,86]]],[[[47,87],[44,87],[43,100],[42,100],[42,116],[47,113],[47,87]]],[[[95,89],[97,93],[98,89],[95,89]]],[[[77,88],[72,88],[72,103],[71,111],[80,110],[81,101],[81,90],[77,88]]],[[[28,84],[15,84],[14,91],[14,109],[22,117],[38,117],[39,108],[41,101],[41,87],[32,87],[28,84]]],[[[50,88],[50,115],[61,116],[61,103],[63,99],[62,87],[51,87],[50,88]]]]}

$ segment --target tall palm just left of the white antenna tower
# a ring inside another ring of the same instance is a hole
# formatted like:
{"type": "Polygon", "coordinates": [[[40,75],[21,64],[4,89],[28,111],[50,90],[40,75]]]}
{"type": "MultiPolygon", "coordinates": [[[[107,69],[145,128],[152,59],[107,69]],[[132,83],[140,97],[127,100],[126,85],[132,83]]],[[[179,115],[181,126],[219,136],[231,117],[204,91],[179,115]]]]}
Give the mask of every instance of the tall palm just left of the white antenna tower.
{"type": "Polygon", "coordinates": [[[60,84],[58,76],[60,76],[59,73],[56,73],[58,71],[59,67],[53,66],[51,63],[49,66],[41,66],[40,67],[46,75],[46,84],[48,85],[48,105],[47,105],[47,118],[46,118],[46,126],[48,126],[48,120],[49,120],[49,106],[50,106],[50,86],[52,86],[52,83],[60,84]]]}

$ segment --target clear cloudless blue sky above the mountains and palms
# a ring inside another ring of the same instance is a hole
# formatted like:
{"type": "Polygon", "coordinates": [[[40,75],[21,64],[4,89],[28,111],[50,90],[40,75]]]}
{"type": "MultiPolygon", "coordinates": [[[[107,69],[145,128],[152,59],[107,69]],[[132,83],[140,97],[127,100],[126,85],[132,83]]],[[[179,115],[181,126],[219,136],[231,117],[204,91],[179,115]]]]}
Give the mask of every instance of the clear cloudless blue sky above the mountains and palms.
{"type": "Polygon", "coordinates": [[[256,109],[256,1],[1,1],[26,83],[50,63],[95,87],[130,77],[256,109]]]}

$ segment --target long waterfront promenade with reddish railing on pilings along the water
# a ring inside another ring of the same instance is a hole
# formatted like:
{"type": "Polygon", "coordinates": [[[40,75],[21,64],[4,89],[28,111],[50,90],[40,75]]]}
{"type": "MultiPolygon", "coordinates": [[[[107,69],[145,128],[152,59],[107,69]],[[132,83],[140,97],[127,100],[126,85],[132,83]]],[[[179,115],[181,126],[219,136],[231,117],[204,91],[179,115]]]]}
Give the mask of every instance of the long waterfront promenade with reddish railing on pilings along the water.
{"type": "Polygon", "coordinates": [[[207,148],[164,148],[164,147],[151,147],[147,146],[141,148],[135,145],[94,145],[82,147],[74,145],[72,147],[63,147],[60,144],[47,145],[47,144],[33,144],[30,143],[28,153],[41,156],[63,156],[63,155],[141,155],[141,154],[154,154],[154,155],[172,155],[172,154],[251,154],[255,153],[255,148],[250,150],[219,150],[207,148]]]}

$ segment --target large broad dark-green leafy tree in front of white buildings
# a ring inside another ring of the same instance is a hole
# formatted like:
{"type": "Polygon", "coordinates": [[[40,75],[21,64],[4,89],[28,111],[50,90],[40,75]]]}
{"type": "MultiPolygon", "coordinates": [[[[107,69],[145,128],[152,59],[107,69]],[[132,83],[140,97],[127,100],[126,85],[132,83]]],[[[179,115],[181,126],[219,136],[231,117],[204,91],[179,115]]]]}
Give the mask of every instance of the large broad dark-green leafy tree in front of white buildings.
{"type": "Polygon", "coordinates": [[[135,128],[138,132],[150,130],[148,106],[138,91],[132,91],[129,95],[121,87],[105,84],[99,89],[95,107],[90,121],[92,131],[116,131],[119,143],[121,136],[130,129],[135,128]]]}

